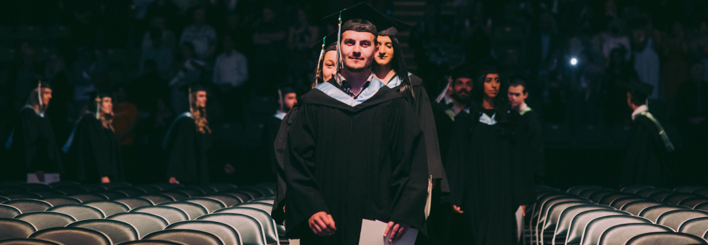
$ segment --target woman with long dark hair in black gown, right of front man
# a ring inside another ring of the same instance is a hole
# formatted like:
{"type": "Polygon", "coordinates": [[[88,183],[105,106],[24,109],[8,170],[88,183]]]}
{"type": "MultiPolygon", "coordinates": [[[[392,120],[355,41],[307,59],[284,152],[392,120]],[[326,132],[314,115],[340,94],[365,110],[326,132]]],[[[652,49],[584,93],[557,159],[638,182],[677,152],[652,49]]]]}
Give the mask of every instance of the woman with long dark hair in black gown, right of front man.
{"type": "Polygon", "coordinates": [[[520,161],[518,152],[525,146],[519,115],[506,101],[498,72],[483,67],[480,74],[469,113],[455,118],[446,166],[449,201],[464,218],[462,241],[518,244],[514,214],[534,200],[532,172],[520,161]]]}

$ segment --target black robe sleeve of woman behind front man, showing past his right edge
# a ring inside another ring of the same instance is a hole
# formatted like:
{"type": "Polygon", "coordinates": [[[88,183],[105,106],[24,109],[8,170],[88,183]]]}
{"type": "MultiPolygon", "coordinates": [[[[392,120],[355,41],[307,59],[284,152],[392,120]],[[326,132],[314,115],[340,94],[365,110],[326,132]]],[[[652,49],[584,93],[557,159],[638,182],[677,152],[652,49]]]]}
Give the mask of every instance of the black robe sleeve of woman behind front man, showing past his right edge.
{"type": "MultiPolygon", "coordinates": [[[[416,79],[412,76],[411,79],[416,79]]],[[[418,121],[423,135],[425,136],[426,156],[428,159],[428,174],[433,176],[433,180],[438,180],[440,190],[446,193],[450,191],[445,176],[445,169],[442,167],[440,160],[440,145],[438,145],[438,131],[435,128],[435,116],[433,116],[433,107],[430,106],[430,98],[428,92],[423,86],[413,86],[413,93],[416,95],[415,108],[418,115],[418,121]]]]}

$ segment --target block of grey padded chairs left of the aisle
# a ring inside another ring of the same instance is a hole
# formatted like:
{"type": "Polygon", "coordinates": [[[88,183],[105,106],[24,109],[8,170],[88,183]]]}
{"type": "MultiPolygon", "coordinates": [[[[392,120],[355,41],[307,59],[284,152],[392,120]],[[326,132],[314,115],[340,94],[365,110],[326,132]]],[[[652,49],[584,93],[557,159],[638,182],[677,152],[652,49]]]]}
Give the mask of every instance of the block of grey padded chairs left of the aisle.
{"type": "Polygon", "coordinates": [[[0,245],[266,245],[273,183],[0,184],[0,245]]]}

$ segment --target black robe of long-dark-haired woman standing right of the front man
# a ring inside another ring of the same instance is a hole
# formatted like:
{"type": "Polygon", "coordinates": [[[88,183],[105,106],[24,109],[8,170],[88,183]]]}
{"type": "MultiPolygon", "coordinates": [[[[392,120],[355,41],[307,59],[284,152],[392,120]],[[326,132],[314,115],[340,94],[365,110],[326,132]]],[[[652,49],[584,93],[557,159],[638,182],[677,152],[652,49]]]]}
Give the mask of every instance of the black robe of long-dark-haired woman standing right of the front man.
{"type": "Polygon", "coordinates": [[[488,125],[461,112],[455,126],[447,158],[452,205],[462,207],[461,234],[469,244],[517,244],[515,211],[532,203],[532,174],[520,161],[523,148],[518,129],[500,135],[500,123],[488,125]],[[472,241],[469,241],[472,239],[472,241]]]}

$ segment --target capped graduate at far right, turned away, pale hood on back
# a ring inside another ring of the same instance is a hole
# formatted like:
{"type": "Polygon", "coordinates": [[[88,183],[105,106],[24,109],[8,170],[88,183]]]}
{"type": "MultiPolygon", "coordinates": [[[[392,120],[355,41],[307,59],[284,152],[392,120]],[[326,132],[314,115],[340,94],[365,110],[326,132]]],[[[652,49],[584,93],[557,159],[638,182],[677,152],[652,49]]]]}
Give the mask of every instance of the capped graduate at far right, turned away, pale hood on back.
{"type": "Polygon", "coordinates": [[[666,156],[673,152],[673,144],[646,106],[646,98],[651,91],[651,84],[641,81],[629,84],[627,104],[633,111],[632,128],[619,179],[621,186],[662,186],[669,178],[666,156]]]}

